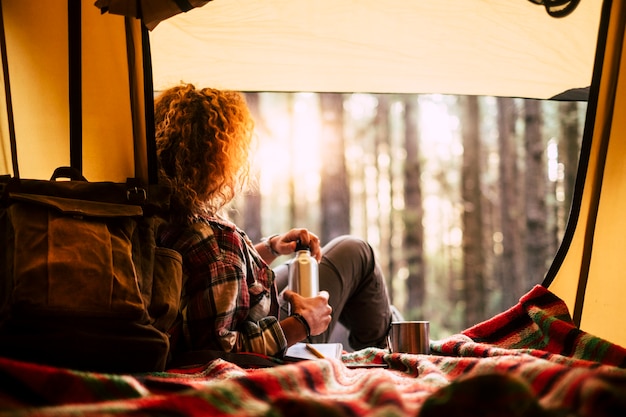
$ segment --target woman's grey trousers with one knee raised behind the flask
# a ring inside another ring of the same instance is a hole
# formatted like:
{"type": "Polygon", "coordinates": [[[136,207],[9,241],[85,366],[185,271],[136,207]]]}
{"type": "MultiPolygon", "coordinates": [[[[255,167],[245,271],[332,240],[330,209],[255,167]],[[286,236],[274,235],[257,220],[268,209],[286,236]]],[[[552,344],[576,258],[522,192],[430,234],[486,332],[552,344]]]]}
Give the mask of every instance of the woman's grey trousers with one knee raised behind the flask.
{"type": "MultiPolygon", "coordinates": [[[[289,266],[287,262],[274,268],[279,293],[287,287],[289,266]]],[[[310,341],[334,341],[331,334],[339,322],[349,332],[352,349],[385,348],[392,313],[385,280],[371,246],[352,236],[333,239],[322,248],[319,280],[320,290],[330,294],[332,321],[324,333],[310,341]]],[[[284,318],[289,314],[289,306],[280,299],[284,318]]]]}

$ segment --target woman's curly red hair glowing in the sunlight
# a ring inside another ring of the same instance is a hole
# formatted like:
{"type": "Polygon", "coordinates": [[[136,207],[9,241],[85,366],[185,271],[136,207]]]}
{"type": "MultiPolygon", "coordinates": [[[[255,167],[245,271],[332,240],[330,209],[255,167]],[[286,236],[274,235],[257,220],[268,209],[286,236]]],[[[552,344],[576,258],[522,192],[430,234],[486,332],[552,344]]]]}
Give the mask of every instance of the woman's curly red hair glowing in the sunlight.
{"type": "Polygon", "coordinates": [[[154,107],[160,176],[175,214],[216,214],[248,179],[254,121],[244,96],[184,84],[163,91],[154,107]]]}

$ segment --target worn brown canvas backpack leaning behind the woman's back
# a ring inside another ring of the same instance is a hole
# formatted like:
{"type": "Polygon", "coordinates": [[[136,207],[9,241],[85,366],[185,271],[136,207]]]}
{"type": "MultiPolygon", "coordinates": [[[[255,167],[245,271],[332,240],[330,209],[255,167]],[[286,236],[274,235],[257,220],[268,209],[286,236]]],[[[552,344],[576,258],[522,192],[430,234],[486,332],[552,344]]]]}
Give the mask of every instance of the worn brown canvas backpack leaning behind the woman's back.
{"type": "Polygon", "coordinates": [[[155,244],[167,193],[132,181],[5,178],[0,188],[0,354],[163,370],[182,285],[180,254],[155,244]]]}

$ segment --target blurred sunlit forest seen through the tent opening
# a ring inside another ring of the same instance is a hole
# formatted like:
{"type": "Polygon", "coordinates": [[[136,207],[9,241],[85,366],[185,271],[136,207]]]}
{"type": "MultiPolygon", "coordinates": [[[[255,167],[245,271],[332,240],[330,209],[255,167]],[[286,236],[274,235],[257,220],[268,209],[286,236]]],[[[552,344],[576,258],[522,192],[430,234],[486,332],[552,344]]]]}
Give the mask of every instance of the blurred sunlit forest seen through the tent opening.
{"type": "MultiPolygon", "coordinates": [[[[560,245],[586,102],[246,93],[253,181],[228,207],[253,241],[353,234],[393,304],[439,339],[514,305],[560,245]]],[[[280,258],[276,262],[284,262],[280,258]]]]}

